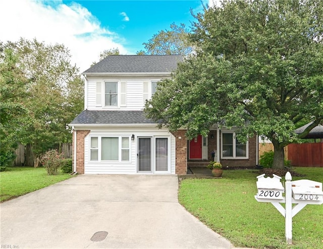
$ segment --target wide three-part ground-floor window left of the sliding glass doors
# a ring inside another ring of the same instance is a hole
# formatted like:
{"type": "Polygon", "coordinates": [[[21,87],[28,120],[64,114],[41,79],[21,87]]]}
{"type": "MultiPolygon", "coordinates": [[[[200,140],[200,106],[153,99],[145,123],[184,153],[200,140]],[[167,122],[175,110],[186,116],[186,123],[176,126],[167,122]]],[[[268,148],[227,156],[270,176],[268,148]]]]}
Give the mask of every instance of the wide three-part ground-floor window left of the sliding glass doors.
{"type": "Polygon", "coordinates": [[[129,137],[92,136],[90,161],[130,161],[129,137]]]}

